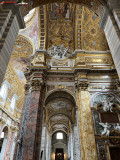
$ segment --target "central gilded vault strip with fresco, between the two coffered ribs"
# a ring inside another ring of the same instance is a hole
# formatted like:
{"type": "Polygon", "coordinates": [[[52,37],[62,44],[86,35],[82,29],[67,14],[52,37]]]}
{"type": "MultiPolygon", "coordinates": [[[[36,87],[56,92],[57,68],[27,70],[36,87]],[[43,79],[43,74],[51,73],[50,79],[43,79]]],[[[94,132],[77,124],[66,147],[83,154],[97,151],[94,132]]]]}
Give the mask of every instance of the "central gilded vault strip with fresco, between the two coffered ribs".
{"type": "Polygon", "coordinates": [[[73,5],[52,3],[48,5],[48,46],[64,45],[73,51],[73,5]]]}

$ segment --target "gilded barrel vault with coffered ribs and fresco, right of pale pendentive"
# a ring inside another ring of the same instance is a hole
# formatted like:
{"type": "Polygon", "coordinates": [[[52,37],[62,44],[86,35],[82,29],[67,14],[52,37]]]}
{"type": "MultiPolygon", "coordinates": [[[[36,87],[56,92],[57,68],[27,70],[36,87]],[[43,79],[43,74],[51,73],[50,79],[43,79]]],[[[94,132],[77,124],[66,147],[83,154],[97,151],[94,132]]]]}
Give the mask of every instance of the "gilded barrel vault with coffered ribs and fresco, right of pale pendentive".
{"type": "Polygon", "coordinates": [[[40,49],[63,45],[69,52],[108,50],[105,35],[99,28],[100,17],[87,7],[51,3],[40,6],[39,17],[40,49]]]}

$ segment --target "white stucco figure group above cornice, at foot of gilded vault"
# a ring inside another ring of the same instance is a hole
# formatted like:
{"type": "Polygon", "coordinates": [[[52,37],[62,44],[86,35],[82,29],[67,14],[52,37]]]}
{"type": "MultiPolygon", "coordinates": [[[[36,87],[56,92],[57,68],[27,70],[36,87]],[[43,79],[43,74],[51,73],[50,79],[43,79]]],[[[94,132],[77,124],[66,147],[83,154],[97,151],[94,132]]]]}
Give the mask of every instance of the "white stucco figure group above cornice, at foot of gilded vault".
{"type": "Polygon", "coordinates": [[[70,49],[64,45],[52,46],[48,49],[48,55],[58,60],[64,60],[70,57],[70,53],[70,49]]]}

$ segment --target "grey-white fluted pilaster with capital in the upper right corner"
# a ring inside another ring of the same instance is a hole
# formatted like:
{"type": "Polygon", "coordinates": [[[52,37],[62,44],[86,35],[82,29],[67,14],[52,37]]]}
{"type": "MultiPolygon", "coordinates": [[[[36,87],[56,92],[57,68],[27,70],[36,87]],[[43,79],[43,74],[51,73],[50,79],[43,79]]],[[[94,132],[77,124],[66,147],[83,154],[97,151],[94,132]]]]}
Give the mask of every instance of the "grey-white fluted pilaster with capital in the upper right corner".
{"type": "Polygon", "coordinates": [[[105,36],[120,77],[120,1],[108,0],[107,8],[104,7],[100,27],[103,28],[105,36]]]}

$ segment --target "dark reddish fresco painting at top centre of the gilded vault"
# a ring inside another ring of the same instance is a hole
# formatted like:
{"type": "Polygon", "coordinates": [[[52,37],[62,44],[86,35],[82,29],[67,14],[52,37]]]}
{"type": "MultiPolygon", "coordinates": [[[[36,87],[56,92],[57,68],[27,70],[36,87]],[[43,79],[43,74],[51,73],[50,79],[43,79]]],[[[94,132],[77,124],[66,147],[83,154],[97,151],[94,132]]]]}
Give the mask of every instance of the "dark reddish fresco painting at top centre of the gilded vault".
{"type": "Polygon", "coordinates": [[[68,10],[68,4],[67,3],[55,3],[55,16],[62,16],[66,17],[67,10],[68,10]]]}

